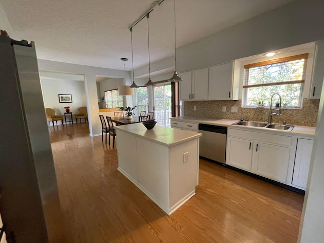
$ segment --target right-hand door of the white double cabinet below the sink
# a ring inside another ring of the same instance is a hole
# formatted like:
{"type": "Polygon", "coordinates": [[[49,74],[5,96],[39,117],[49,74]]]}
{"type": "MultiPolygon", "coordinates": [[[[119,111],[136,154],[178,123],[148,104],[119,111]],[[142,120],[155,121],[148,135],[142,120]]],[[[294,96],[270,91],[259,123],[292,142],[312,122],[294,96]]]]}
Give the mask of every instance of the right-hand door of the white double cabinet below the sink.
{"type": "Polygon", "coordinates": [[[254,148],[253,173],[286,183],[290,148],[256,143],[254,148]]]}

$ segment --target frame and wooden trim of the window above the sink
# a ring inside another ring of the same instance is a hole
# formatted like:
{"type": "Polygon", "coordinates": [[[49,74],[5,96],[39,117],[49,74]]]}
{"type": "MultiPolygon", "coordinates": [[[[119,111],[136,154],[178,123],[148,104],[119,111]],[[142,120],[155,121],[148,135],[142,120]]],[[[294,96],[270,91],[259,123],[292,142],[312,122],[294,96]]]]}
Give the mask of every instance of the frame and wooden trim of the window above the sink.
{"type": "MultiPolygon", "coordinates": [[[[284,57],[284,58],[278,58],[278,59],[272,59],[268,61],[263,61],[263,62],[257,62],[257,63],[251,63],[244,65],[244,80],[243,80],[243,86],[242,86],[242,107],[243,108],[258,108],[259,106],[256,105],[247,105],[247,91],[249,88],[253,87],[265,87],[265,86],[276,86],[276,85],[289,85],[289,84],[301,84],[300,87],[300,93],[299,93],[299,104],[298,106],[287,106],[285,108],[288,109],[300,109],[302,108],[303,104],[303,95],[304,95],[304,88],[305,88],[305,77],[306,77],[306,69],[307,69],[307,58],[308,58],[308,53],[305,54],[300,54],[300,55],[295,55],[295,56],[289,56],[289,57],[284,57]],[[266,65],[271,65],[271,64],[276,64],[276,63],[284,63],[284,62],[289,62],[289,61],[295,61],[295,60],[301,60],[305,59],[304,61],[304,66],[303,66],[303,73],[302,73],[302,79],[301,80],[289,80],[289,81],[284,81],[284,82],[273,82],[273,83],[267,83],[267,84],[258,84],[258,85],[249,85],[249,69],[252,67],[259,67],[259,66],[266,66],[266,65]]],[[[269,105],[266,105],[264,107],[269,107],[269,105]]],[[[283,106],[283,104],[282,104],[283,106]]]]}

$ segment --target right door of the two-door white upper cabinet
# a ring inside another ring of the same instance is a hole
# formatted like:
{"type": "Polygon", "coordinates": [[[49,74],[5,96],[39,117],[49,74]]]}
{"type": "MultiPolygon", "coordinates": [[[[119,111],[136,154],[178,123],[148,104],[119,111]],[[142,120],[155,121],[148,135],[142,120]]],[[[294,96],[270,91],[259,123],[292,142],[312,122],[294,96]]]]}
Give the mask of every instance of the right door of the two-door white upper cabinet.
{"type": "Polygon", "coordinates": [[[192,71],[192,96],[193,100],[208,99],[208,68],[192,71]]]}

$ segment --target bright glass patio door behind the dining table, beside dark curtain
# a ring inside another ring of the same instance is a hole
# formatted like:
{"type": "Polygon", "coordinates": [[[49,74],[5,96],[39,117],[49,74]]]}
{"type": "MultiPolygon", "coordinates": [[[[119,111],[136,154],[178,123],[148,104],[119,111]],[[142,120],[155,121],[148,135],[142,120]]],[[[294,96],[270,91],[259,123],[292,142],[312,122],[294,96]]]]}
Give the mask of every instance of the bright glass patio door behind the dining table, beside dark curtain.
{"type": "Polygon", "coordinates": [[[171,85],[161,85],[153,88],[155,120],[158,126],[170,127],[171,85]]]}

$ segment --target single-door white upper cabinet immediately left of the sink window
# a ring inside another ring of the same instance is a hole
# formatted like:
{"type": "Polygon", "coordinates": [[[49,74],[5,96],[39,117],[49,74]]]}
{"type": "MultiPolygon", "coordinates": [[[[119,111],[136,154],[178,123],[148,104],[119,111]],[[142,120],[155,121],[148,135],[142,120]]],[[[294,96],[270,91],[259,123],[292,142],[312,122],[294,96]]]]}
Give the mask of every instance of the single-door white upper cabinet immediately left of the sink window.
{"type": "Polygon", "coordinates": [[[240,63],[228,62],[209,68],[209,100],[237,100],[240,63]]]}

